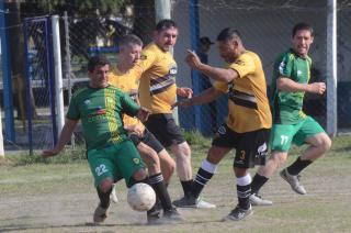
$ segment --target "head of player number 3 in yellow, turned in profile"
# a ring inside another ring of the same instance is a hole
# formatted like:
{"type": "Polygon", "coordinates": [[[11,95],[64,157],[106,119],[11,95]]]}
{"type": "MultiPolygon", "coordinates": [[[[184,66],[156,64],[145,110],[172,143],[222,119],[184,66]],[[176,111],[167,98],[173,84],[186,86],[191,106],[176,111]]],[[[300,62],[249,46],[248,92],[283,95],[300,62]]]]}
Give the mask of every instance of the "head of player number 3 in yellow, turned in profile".
{"type": "Polygon", "coordinates": [[[233,63],[242,53],[240,33],[231,27],[220,31],[217,36],[219,56],[227,63],[233,63]]]}

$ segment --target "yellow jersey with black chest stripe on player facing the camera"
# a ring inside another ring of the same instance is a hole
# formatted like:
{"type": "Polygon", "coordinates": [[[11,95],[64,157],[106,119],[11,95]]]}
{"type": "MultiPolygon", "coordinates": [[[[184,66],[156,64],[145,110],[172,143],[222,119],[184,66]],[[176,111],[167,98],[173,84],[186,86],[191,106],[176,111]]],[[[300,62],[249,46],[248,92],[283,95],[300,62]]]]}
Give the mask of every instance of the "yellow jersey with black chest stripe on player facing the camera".
{"type": "Polygon", "coordinates": [[[139,85],[140,104],[155,113],[171,113],[177,98],[177,63],[170,52],[155,43],[143,49],[140,66],[144,69],[139,85]]]}

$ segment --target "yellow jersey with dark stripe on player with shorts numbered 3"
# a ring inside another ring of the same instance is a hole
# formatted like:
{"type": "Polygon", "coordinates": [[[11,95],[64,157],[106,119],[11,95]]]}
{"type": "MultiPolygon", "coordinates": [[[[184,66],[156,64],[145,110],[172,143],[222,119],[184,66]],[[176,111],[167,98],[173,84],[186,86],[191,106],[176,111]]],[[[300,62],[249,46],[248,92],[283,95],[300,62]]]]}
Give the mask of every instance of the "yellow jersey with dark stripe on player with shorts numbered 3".
{"type": "Polygon", "coordinates": [[[227,125],[237,133],[270,129],[272,115],[259,56],[247,51],[227,68],[239,74],[239,77],[229,84],[215,82],[216,89],[228,93],[227,125]]]}

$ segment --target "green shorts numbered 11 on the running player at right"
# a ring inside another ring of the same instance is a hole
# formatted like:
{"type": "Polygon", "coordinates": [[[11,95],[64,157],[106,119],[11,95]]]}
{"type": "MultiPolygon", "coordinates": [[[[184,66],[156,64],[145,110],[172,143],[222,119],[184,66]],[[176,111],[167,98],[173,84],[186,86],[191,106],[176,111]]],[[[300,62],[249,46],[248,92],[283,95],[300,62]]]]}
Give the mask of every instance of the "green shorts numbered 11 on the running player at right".
{"type": "Polygon", "coordinates": [[[287,152],[292,143],[301,146],[307,137],[324,133],[325,130],[313,118],[307,116],[297,124],[273,124],[271,132],[271,149],[287,152]]]}

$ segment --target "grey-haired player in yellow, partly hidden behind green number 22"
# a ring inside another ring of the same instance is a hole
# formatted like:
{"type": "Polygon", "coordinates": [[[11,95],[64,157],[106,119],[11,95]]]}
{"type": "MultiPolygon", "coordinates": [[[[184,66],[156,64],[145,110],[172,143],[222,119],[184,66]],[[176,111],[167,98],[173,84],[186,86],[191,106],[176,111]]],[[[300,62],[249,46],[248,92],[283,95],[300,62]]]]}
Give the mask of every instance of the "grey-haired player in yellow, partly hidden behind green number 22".
{"type": "MultiPolygon", "coordinates": [[[[139,78],[143,71],[138,63],[141,55],[143,42],[136,35],[129,34],[118,41],[118,62],[109,76],[109,82],[128,93],[138,103],[139,78]]],[[[152,133],[145,129],[140,120],[124,114],[123,123],[124,129],[129,131],[131,140],[148,167],[149,184],[154,187],[160,200],[163,215],[168,217],[168,219],[181,220],[177,210],[172,207],[165,185],[165,182],[169,184],[169,179],[176,169],[176,162],[152,133]],[[161,168],[163,168],[163,176],[161,168]]],[[[158,221],[158,219],[159,210],[152,209],[148,212],[148,222],[158,221]]]]}

